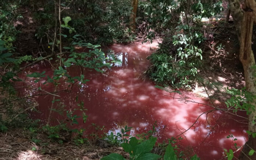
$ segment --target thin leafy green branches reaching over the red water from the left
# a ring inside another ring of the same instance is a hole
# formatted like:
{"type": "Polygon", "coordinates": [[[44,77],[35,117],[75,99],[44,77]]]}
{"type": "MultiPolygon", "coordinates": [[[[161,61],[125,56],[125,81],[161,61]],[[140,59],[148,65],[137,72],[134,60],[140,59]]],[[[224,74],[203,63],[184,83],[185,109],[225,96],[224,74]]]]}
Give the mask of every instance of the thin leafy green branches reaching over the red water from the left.
{"type": "MultiPolygon", "coordinates": [[[[85,75],[81,74],[80,76],[70,76],[67,72],[67,69],[71,66],[80,66],[89,69],[95,69],[97,72],[104,72],[103,69],[110,68],[111,63],[118,62],[115,60],[114,55],[109,55],[105,57],[104,52],[102,52],[99,47],[100,45],[93,45],[90,43],[83,43],[82,41],[73,42],[72,46],[81,46],[90,48],[89,52],[81,52],[78,53],[74,50],[74,47],[64,47],[67,50],[70,50],[70,55],[68,58],[61,58],[64,66],[58,66],[57,69],[54,70],[53,77],[47,76],[47,80],[43,84],[54,83],[58,84],[60,79],[65,79],[68,83],[75,83],[77,80],[81,83],[86,83],[88,80],[85,79],[85,75]]],[[[60,56],[58,56],[60,58],[60,56]]],[[[31,73],[27,75],[28,77],[38,78],[34,82],[38,83],[40,78],[46,77],[45,71],[42,73],[31,73]]],[[[83,117],[85,118],[85,117],[83,117]]]]}

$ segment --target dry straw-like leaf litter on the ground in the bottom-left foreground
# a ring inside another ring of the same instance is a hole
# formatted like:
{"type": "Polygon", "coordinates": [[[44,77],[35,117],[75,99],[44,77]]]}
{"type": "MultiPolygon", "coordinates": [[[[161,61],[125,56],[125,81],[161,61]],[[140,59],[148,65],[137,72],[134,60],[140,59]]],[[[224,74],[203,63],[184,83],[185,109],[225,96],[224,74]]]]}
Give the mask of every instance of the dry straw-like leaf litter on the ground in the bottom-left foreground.
{"type": "Polygon", "coordinates": [[[100,159],[110,153],[128,156],[121,147],[104,148],[98,143],[59,144],[51,142],[44,133],[38,134],[37,138],[41,140],[40,144],[45,145],[36,145],[31,141],[30,134],[29,130],[24,129],[0,133],[0,160],[91,160],[100,159]]]}

